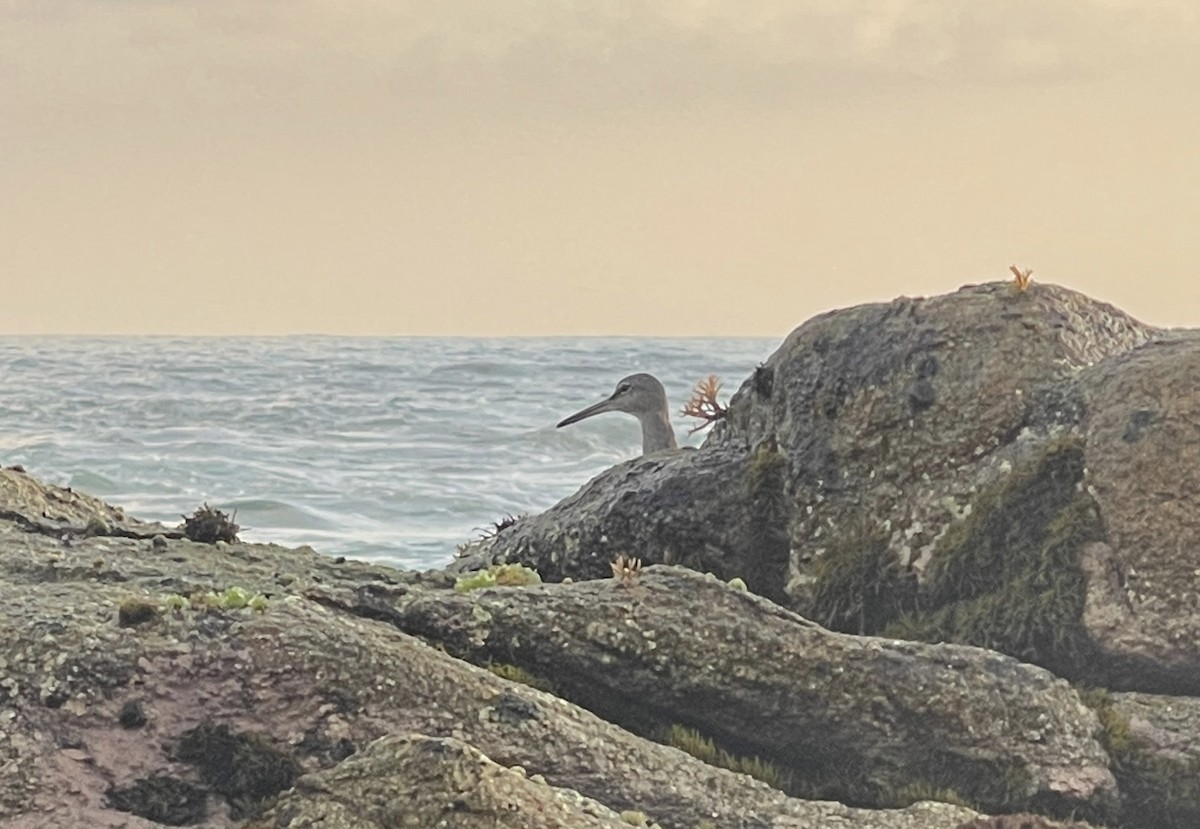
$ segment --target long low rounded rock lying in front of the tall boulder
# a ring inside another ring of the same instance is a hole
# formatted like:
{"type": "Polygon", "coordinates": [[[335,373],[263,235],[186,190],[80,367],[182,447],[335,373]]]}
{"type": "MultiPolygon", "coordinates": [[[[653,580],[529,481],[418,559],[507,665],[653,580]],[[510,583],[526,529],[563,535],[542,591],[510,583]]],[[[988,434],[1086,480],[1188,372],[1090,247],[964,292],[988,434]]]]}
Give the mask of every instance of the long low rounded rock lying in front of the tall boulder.
{"type": "Polygon", "coordinates": [[[703,723],[816,797],[878,805],[936,781],[995,812],[1104,816],[1115,804],[1098,720],[1046,671],[833,633],[686,570],[649,567],[635,587],[367,588],[344,607],[476,661],[517,662],[606,719],[644,729],[648,709],[703,723]]]}

